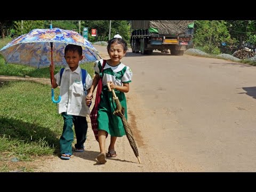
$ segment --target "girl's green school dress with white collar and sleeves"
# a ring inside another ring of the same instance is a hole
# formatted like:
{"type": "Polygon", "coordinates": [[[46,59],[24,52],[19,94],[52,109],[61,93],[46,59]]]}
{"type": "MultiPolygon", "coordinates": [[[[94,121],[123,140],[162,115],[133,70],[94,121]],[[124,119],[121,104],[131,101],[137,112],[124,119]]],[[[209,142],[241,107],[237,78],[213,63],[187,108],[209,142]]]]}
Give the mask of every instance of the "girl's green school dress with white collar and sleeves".
{"type": "MultiPolygon", "coordinates": [[[[122,86],[123,83],[130,83],[132,80],[132,71],[130,67],[119,63],[118,66],[112,67],[106,65],[101,74],[103,60],[95,61],[94,71],[95,74],[102,76],[102,92],[101,99],[98,107],[98,130],[104,130],[113,137],[122,137],[125,135],[124,126],[120,117],[114,115],[116,103],[113,100],[113,94],[108,91],[107,82],[111,81],[116,85],[122,86]]],[[[125,94],[121,91],[115,90],[116,96],[121,105],[125,109],[125,118],[127,119],[127,107],[125,94]]]]}

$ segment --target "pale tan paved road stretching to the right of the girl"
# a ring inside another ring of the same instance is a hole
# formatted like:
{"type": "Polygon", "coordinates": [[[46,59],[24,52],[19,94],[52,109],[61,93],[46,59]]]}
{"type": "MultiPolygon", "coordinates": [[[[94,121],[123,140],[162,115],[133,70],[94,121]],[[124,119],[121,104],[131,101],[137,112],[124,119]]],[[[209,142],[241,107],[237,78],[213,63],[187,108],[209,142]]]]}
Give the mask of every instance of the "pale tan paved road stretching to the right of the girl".
{"type": "Polygon", "coordinates": [[[129,51],[123,62],[133,71],[128,98],[138,94],[143,107],[144,144],[195,171],[256,171],[256,67],[159,52],[129,51]]]}

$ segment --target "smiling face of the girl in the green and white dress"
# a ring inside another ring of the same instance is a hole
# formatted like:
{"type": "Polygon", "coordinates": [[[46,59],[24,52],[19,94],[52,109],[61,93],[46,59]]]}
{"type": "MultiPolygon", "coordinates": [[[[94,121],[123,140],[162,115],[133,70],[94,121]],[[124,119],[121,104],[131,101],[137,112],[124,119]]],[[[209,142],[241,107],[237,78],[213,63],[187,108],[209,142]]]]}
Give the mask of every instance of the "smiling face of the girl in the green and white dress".
{"type": "Polygon", "coordinates": [[[126,51],[124,51],[124,48],[121,44],[113,43],[110,45],[110,49],[108,51],[111,64],[112,65],[118,65],[120,63],[120,60],[124,57],[126,51]]]}

